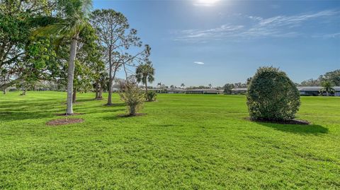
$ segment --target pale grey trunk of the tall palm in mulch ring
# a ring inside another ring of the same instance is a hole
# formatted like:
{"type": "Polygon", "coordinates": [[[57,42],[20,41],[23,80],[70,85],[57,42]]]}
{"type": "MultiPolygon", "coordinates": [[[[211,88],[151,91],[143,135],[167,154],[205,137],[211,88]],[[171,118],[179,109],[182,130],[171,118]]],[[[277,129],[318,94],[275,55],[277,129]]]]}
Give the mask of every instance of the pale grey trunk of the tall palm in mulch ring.
{"type": "Polygon", "coordinates": [[[73,114],[73,80],[74,80],[74,61],[77,55],[78,34],[72,38],[71,49],[69,50],[69,69],[67,71],[67,110],[66,114],[73,114]]]}

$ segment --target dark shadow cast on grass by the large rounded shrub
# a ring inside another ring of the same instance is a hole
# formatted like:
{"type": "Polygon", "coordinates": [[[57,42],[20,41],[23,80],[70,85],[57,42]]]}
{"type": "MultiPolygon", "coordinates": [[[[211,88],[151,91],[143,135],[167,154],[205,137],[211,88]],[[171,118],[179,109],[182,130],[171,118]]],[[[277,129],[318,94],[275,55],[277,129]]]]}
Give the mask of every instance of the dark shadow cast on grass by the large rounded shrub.
{"type": "Polygon", "coordinates": [[[315,134],[318,133],[328,133],[328,129],[320,125],[296,125],[296,124],[272,124],[256,122],[256,124],[261,124],[263,126],[268,126],[278,131],[285,131],[290,133],[301,133],[301,134],[315,134]]]}

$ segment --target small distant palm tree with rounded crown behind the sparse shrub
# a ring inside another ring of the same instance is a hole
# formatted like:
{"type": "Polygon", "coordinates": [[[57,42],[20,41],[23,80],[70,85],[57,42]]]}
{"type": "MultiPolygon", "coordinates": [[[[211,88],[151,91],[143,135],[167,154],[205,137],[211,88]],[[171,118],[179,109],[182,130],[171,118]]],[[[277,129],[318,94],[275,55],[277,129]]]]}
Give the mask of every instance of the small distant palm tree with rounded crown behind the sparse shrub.
{"type": "Polygon", "coordinates": [[[138,83],[142,82],[145,85],[145,93],[147,93],[147,82],[152,83],[154,81],[154,68],[151,61],[137,66],[136,78],[138,83]]]}

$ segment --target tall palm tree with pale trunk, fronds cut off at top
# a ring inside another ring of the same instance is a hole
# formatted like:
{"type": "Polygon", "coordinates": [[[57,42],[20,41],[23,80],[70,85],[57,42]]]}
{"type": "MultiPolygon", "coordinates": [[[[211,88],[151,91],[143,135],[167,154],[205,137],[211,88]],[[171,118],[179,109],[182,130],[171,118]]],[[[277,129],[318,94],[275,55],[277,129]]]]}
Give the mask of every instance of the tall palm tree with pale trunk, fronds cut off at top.
{"type": "Polygon", "coordinates": [[[74,82],[74,61],[77,56],[77,45],[79,34],[89,25],[89,13],[92,7],[91,0],[58,1],[62,10],[62,18],[38,18],[43,20],[54,20],[55,22],[35,30],[34,35],[47,36],[57,35],[57,41],[71,40],[69,49],[69,65],[67,71],[67,111],[66,114],[73,114],[72,93],[74,82]]]}

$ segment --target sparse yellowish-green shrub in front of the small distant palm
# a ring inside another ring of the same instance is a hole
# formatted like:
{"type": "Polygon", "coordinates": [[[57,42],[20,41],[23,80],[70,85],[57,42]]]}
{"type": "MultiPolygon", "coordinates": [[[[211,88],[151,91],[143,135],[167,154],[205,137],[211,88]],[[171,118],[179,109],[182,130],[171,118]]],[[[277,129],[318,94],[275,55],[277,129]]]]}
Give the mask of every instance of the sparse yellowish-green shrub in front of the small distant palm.
{"type": "Polygon", "coordinates": [[[136,115],[142,108],[145,100],[144,93],[142,93],[142,90],[140,90],[135,83],[125,83],[119,95],[120,99],[126,103],[128,112],[131,116],[136,115]]]}

